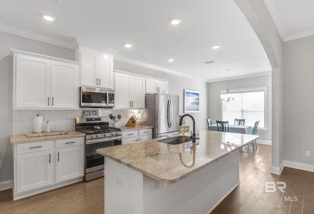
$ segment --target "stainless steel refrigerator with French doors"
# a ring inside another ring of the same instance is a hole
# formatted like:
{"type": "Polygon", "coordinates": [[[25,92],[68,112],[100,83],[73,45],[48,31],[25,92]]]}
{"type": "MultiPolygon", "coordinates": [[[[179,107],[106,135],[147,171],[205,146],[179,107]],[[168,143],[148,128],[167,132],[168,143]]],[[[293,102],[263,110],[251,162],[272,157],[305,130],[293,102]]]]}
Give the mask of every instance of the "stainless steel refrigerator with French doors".
{"type": "Polygon", "coordinates": [[[179,95],[146,94],[141,123],[153,128],[153,138],[179,134],[179,95]]]}

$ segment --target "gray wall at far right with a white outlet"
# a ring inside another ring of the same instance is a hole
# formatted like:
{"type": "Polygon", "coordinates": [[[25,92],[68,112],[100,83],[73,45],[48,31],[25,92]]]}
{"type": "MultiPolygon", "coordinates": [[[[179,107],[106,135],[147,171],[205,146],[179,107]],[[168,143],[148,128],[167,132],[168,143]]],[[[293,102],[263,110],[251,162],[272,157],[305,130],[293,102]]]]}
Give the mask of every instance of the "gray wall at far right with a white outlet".
{"type": "Polygon", "coordinates": [[[314,165],[314,36],[284,42],[284,159],[314,165]],[[305,151],[311,157],[305,157],[305,151]]]}

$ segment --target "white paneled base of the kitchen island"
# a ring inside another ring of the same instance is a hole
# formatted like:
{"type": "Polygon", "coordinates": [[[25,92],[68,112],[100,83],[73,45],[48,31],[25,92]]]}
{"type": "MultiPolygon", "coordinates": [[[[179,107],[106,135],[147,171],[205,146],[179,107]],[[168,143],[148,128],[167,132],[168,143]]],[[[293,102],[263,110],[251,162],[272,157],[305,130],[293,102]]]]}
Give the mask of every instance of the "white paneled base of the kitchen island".
{"type": "Polygon", "coordinates": [[[105,163],[105,214],[208,214],[239,184],[238,150],[174,184],[105,163]]]}

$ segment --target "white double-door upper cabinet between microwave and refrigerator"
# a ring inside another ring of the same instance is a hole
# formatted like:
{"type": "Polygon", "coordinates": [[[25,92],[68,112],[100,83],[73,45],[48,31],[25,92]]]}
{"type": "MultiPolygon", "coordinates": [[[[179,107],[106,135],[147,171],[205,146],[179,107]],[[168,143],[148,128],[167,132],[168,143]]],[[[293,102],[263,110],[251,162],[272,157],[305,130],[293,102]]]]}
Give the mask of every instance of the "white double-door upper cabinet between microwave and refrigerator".
{"type": "Polygon", "coordinates": [[[145,78],[115,73],[115,108],[145,108],[145,78]]]}

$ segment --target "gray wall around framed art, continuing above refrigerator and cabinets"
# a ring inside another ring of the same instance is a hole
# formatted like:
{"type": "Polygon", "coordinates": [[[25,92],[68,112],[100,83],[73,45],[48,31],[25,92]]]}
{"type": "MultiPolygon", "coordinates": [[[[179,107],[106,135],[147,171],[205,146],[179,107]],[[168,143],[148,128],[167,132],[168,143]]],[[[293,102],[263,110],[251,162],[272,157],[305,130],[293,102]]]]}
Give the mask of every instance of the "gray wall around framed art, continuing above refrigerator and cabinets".
{"type": "MultiPolygon", "coordinates": [[[[150,77],[156,77],[169,81],[169,94],[179,95],[179,114],[183,114],[183,102],[184,102],[184,89],[190,89],[200,91],[200,113],[190,113],[195,119],[196,130],[207,130],[207,113],[208,113],[208,86],[207,82],[200,82],[198,80],[188,79],[172,75],[169,73],[144,68],[136,65],[131,65],[125,62],[116,61],[113,62],[114,69],[127,71],[135,74],[146,75],[150,77]]],[[[185,117],[185,125],[190,125],[192,129],[192,120],[189,117],[185,117]]]]}

